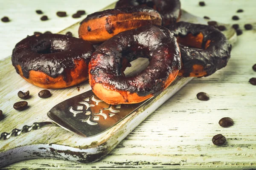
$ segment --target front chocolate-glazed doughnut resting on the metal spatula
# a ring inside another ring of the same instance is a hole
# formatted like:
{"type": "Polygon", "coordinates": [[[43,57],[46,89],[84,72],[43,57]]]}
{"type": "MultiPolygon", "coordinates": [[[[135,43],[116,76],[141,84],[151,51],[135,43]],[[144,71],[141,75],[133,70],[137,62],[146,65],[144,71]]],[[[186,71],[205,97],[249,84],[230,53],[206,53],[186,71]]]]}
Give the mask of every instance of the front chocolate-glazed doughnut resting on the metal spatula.
{"type": "Polygon", "coordinates": [[[117,34],[99,45],[89,63],[89,83],[105,102],[131,104],[160,93],[180,69],[176,38],[162,26],[143,26],[117,34]],[[134,77],[123,71],[132,60],[145,57],[148,67],[134,77]]]}

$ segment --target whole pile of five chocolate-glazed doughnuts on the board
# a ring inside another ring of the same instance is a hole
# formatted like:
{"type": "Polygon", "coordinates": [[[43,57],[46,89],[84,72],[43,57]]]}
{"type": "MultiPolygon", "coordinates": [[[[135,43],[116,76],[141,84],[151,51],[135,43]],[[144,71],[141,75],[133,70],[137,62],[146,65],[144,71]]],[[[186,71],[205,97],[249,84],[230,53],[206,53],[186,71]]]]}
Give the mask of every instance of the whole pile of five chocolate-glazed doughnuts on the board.
{"type": "Polygon", "coordinates": [[[142,102],[177,75],[207,77],[230,59],[231,45],[220,31],[178,22],[180,15],[179,0],[119,0],[116,8],[86,17],[80,39],[35,34],[21,40],[12,64],[41,88],[66,88],[89,78],[94,94],[108,104],[142,102]],[[148,67],[125,77],[125,68],[139,57],[149,59],[148,67]]]}

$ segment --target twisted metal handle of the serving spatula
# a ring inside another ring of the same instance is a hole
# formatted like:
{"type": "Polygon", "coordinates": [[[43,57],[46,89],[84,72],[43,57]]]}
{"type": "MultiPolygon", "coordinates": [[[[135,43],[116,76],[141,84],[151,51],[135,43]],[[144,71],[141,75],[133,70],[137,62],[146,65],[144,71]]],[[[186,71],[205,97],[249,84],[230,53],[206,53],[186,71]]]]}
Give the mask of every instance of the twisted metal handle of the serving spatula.
{"type": "Polygon", "coordinates": [[[22,129],[15,128],[10,133],[7,133],[7,132],[1,133],[0,141],[9,139],[11,136],[19,136],[21,133],[27,133],[27,132],[30,132],[31,130],[38,130],[43,127],[50,127],[50,126],[58,126],[58,125],[55,124],[54,122],[35,122],[31,126],[24,125],[22,129]]]}

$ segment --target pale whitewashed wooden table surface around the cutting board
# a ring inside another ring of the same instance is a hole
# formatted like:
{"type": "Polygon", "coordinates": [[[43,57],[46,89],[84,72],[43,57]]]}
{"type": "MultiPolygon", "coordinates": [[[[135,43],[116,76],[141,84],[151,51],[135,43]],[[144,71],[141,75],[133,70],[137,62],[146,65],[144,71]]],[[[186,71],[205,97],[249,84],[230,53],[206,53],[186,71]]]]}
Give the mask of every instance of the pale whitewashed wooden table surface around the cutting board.
{"type": "MultiPolygon", "coordinates": [[[[0,22],[0,59],[12,53],[14,45],[34,31],[58,32],[76,23],[71,14],[85,9],[98,11],[113,0],[32,0],[0,1],[0,17],[8,16],[10,23],[0,22]],[[35,9],[50,18],[41,21],[35,9]],[[58,18],[56,11],[67,11],[68,17],[58,18]]],[[[243,34],[233,47],[226,68],[201,79],[193,79],[175,96],[164,103],[140,126],[130,133],[105,159],[90,164],[78,164],[58,159],[33,159],[2,169],[113,169],[146,167],[158,169],[252,169],[256,168],[256,87],[248,82],[256,77],[255,0],[181,0],[182,8],[197,16],[208,16],[222,23],[239,23],[243,34]],[[241,8],[243,13],[236,13],[241,8]],[[238,15],[240,20],[232,20],[238,15]],[[245,31],[245,23],[253,30],[245,31]],[[198,92],[207,92],[207,102],[196,99],[198,92]],[[231,117],[235,125],[218,125],[222,117],[231,117]],[[215,134],[227,138],[224,146],[212,144],[215,134]]],[[[1,78],[1,77],[0,77],[1,78]]],[[[0,88],[0,91],[4,89],[0,88]]],[[[1,123],[0,123],[1,125],[1,123]]]]}

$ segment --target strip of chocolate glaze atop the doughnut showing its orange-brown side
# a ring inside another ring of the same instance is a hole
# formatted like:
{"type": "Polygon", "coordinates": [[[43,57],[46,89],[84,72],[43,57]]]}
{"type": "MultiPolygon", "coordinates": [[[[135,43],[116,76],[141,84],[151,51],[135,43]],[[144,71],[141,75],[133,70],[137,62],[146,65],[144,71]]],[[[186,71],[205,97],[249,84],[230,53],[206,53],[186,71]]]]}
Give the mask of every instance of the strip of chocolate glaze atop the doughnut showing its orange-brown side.
{"type": "Polygon", "coordinates": [[[117,14],[132,14],[132,13],[139,13],[139,12],[156,12],[154,9],[149,8],[147,6],[143,6],[141,8],[134,8],[132,6],[125,7],[125,8],[116,8],[116,9],[107,9],[104,11],[94,12],[93,14],[87,15],[87,17],[81,21],[80,25],[84,22],[89,20],[101,18],[101,17],[108,17],[111,15],[117,14]]]}

